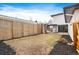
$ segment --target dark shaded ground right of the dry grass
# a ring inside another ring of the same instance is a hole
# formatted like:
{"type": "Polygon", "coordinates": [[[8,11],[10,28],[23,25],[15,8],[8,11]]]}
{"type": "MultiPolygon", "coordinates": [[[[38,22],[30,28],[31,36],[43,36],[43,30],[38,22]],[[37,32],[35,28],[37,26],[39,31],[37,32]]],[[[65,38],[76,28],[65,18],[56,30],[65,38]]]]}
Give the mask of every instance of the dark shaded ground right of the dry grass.
{"type": "MultiPolygon", "coordinates": [[[[68,35],[63,36],[67,41],[71,42],[70,37],[68,35]]],[[[66,43],[57,42],[54,45],[54,48],[50,52],[50,55],[78,55],[75,51],[74,46],[67,45],[66,43]]]]}

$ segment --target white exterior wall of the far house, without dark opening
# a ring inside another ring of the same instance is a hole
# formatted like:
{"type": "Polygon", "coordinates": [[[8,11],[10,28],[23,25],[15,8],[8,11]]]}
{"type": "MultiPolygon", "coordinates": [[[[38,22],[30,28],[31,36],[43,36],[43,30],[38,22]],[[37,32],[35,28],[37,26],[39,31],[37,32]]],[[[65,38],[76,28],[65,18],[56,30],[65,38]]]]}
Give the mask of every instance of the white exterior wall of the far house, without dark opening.
{"type": "Polygon", "coordinates": [[[51,17],[49,23],[50,24],[57,24],[56,26],[53,26],[53,32],[58,32],[58,25],[67,25],[67,23],[65,23],[65,17],[64,14],[59,14],[59,15],[55,15],[53,17],[51,17]]]}

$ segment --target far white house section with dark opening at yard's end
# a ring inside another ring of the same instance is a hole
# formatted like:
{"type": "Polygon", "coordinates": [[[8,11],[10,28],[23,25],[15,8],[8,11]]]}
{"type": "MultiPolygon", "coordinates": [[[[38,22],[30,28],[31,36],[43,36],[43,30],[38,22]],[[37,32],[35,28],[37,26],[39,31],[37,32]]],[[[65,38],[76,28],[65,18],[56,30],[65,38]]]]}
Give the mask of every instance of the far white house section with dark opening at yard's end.
{"type": "Polygon", "coordinates": [[[64,13],[51,15],[48,26],[51,32],[68,32],[68,24],[65,23],[64,13]]]}

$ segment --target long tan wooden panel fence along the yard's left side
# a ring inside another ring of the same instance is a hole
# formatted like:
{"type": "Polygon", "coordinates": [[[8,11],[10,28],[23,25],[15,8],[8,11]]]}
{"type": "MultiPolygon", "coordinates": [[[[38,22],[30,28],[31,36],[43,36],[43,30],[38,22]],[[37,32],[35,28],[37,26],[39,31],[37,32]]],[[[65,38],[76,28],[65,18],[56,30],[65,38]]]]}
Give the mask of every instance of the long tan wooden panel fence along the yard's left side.
{"type": "Polygon", "coordinates": [[[0,19],[0,40],[43,33],[43,24],[0,19]]]}

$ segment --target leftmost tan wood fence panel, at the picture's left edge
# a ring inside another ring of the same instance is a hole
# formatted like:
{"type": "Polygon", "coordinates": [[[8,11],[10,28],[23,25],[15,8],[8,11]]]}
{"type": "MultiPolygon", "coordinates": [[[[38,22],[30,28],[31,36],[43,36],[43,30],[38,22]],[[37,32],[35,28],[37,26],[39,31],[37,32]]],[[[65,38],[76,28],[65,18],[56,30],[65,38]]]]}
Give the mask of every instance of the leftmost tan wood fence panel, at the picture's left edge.
{"type": "Polygon", "coordinates": [[[0,20],[0,40],[12,39],[12,22],[0,20]]]}

